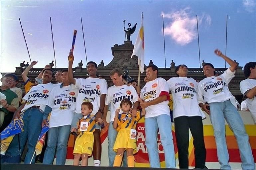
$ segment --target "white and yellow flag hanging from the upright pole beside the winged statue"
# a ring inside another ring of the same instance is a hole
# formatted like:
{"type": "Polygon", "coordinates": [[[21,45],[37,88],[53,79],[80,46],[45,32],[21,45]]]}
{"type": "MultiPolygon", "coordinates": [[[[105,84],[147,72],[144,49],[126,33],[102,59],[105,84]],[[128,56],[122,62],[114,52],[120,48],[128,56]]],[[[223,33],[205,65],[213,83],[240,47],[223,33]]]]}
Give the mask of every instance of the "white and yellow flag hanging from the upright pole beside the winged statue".
{"type": "Polygon", "coordinates": [[[138,63],[140,63],[140,72],[144,72],[144,31],[143,31],[143,13],[141,15],[141,26],[139,30],[139,34],[137,36],[134,48],[133,48],[133,55],[136,55],[138,57],[138,63]],[[139,62],[140,60],[140,62],[139,62]]]}

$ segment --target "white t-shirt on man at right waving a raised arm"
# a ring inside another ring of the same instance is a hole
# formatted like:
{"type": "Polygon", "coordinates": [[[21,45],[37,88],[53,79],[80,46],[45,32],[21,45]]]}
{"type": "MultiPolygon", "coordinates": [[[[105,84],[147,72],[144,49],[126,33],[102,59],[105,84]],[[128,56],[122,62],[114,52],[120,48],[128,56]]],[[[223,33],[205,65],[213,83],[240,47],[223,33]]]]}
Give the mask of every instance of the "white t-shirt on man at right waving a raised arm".
{"type": "Polygon", "coordinates": [[[228,84],[235,77],[235,71],[230,68],[219,76],[206,77],[198,83],[197,100],[199,103],[225,102],[230,100],[237,108],[235,97],[228,89],[228,84]]]}

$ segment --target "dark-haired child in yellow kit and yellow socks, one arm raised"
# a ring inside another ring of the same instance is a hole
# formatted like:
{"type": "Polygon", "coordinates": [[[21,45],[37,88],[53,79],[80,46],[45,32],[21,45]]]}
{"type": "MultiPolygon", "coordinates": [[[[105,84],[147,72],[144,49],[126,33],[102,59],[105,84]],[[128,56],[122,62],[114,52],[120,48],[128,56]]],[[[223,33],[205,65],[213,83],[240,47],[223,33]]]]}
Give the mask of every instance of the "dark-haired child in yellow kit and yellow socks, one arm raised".
{"type": "Polygon", "coordinates": [[[124,151],[127,151],[127,165],[128,167],[135,167],[135,159],[133,154],[137,153],[136,140],[136,125],[145,112],[137,112],[135,117],[130,113],[132,109],[132,102],[124,99],[120,103],[120,109],[116,110],[116,115],[113,122],[113,128],[118,131],[113,150],[117,152],[113,166],[121,166],[124,151]]]}

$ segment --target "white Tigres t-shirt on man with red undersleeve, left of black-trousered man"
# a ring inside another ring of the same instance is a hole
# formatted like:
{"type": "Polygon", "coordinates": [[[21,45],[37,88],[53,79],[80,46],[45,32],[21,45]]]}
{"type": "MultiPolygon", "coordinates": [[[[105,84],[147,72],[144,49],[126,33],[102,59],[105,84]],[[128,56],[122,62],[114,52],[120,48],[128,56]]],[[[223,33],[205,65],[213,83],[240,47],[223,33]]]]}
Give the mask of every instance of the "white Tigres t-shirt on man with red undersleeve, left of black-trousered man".
{"type": "MultiPolygon", "coordinates": [[[[162,91],[169,93],[169,86],[165,79],[159,77],[145,84],[145,86],[140,91],[140,97],[146,102],[152,101],[158,98],[162,91]]],[[[170,109],[168,103],[169,101],[166,100],[159,104],[147,107],[145,118],[156,117],[162,114],[170,116],[170,109]]]]}

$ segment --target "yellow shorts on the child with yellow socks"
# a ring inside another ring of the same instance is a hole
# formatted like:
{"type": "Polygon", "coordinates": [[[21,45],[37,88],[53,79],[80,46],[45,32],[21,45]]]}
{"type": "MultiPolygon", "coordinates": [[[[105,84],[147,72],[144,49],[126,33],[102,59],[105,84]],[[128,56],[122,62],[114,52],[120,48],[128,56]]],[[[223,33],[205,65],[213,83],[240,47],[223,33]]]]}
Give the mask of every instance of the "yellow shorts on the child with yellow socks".
{"type": "Polygon", "coordinates": [[[117,152],[118,148],[132,148],[133,154],[137,153],[137,140],[130,138],[130,128],[120,129],[117,133],[113,150],[117,152]]]}

